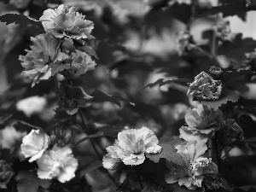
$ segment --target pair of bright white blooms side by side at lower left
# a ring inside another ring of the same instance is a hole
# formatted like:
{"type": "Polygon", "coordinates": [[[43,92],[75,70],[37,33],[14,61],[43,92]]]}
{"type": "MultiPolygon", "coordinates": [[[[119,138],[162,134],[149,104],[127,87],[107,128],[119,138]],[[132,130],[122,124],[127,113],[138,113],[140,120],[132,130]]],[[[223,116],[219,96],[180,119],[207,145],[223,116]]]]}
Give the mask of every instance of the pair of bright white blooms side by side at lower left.
{"type": "Polygon", "coordinates": [[[78,160],[73,157],[71,148],[55,145],[49,150],[49,142],[49,136],[44,132],[32,130],[22,139],[21,154],[30,157],[29,162],[37,160],[39,178],[57,177],[61,183],[65,183],[75,177],[78,160]]]}

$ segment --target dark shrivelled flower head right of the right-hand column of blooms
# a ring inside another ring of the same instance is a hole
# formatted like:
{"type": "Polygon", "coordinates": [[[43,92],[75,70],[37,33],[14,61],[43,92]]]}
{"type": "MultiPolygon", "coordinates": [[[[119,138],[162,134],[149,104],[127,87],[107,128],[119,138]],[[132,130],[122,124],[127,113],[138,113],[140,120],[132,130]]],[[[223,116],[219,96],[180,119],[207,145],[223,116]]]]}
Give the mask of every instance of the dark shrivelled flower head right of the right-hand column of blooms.
{"type": "Polygon", "coordinates": [[[235,147],[243,137],[243,131],[234,119],[224,120],[217,133],[218,142],[223,146],[235,147]]]}

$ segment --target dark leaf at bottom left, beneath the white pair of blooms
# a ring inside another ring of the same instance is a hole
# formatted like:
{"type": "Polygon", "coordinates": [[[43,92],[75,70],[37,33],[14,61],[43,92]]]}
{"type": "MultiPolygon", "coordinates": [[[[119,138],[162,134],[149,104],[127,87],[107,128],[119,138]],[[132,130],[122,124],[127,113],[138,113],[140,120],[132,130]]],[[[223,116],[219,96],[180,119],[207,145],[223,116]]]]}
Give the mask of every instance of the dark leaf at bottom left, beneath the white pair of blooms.
{"type": "Polygon", "coordinates": [[[35,192],[39,186],[49,188],[49,179],[40,179],[36,172],[20,171],[16,176],[18,192],[35,192]]]}

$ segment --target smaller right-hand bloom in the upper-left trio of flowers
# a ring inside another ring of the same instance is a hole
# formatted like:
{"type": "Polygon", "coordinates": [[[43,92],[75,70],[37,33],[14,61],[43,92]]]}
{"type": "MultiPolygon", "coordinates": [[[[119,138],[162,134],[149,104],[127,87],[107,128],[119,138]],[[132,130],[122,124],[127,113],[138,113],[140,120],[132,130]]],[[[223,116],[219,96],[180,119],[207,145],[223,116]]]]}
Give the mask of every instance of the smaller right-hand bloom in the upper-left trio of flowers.
{"type": "Polygon", "coordinates": [[[85,52],[75,49],[71,57],[72,61],[70,63],[70,69],[68,70],[69,78],[77,79],[87,71],[95,69],[96,62],[92,61],[90,55],[85,52]]]}

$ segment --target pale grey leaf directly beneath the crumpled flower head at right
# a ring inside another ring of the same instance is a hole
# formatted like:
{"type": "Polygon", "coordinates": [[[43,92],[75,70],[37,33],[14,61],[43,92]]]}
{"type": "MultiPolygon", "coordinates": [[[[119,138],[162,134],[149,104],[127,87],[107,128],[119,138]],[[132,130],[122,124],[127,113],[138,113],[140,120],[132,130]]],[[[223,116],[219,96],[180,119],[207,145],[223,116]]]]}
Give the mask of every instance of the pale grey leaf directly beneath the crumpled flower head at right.
{"type": "Polygon", "coordinates": [[[227,102],[237,102],[239,99],[239,96],[237,95],[231,95],[231,96],[224,96],[220,98],[216,102],[201,102],[202,105],[207,105],[209,108],[212,108],[214,111],[217,111],[220,106],[223,104],[226,104],[227,102]]]}

